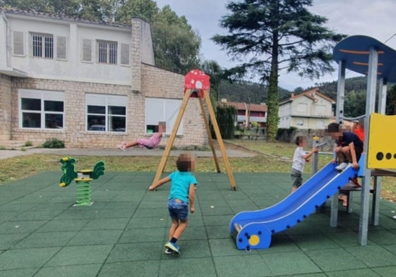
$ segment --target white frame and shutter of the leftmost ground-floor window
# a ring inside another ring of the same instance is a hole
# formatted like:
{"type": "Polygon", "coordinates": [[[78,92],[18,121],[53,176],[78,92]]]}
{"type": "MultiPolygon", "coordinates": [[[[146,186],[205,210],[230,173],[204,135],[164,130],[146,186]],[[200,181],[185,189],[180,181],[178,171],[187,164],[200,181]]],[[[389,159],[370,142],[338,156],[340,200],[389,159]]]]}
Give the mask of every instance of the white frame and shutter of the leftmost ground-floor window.
{"type": "Polygon", "coordinates": [[[63,111],[46,111],[45,110],[45,101],[62,101],[64,103],[64,92],[59,91],[49,91],[49,90],[18,90],[18,110],[19,110],[19,128],[22,129],[45,129],[45,130],[64,130],[65,127],[65,106],[63,107],[63,111]],[[28,110],[22,109],[22,99],[40,99],[40,110],[28,110]],[[23,127],[23,121],[25,118],[25,114],[37,114],[40,115],[40,126],[38,127],[23,127]],[[58,125],[56,128],[46,128],[46,119],[49,115],[59,115],[62,117],[61,125],[58,125]]]}

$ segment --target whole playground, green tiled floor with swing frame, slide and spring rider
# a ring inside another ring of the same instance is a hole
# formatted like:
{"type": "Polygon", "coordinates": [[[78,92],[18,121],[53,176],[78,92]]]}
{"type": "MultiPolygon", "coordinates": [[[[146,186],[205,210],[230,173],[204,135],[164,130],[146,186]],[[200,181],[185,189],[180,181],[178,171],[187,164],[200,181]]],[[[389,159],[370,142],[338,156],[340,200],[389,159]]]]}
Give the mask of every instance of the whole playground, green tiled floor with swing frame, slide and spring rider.
{"type": "MultiPolygon", "coordinates": [[[[344,39],[337,47],[337,122],[343,118],[345,68],[368,66],[368,140],[359,166],[354,161],[356,168],[349,165],[340,171],[330,162],[292,194],[289,173],[233,173],[210,103],[209,77],[191,70],[154,179],[152,173],[104,174],[103,161],[76,171],[76,159],[64,156],[59,182],[59,173],[49,171],[0,187],[0,276],[394,276],[396,204],[380,199],[378,180],[395,176],[386,169],[395,168],[394,131],[378,126],[385,121],[391,125],[395,118],[383,115],[383,106],[374,113],[373,106],[378,54],[389,49],[362,36],[344,39]],[[369,51],[360,49],[359,42],[369,51]],[[368,56],[369,62],[349,63],[356,59],[353,55],[368,56]],[[195,174],[196,213],[178,241],[181,253],[165,254],[169,189],[149,192],[148,185],[164,175],[191,97],[198,98],[202,114],[204,104],[208,107],[226,171],[220,171],[208,118],[203,116],[217,173],[195,174]],[[385,148],[381,142],[387,142],[385,148]],[[364,178],[361,190],[349,191],[347,210],[340,209],[338,192],[357,176],[364,178]],[[371,178],[373,189],[365,182],[371,178]],[[357,202],[354,193],[361,195],[357,202]]],[[[380,99],[386,82],[394,78],[387,70],[388,79],[380,78],[380,99]]]]}

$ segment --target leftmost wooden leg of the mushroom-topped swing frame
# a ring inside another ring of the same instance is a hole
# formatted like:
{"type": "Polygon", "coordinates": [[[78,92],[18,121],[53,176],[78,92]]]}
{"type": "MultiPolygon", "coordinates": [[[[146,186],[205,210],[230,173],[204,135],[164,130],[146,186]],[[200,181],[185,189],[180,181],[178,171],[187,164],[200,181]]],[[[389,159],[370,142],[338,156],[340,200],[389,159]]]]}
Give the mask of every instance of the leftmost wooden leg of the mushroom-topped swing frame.
{"type": "Polygon", "coordinates": [[[177,130],[179,130],[181,118],[183,118],[184,111],[186,111],[186,107],[187,107],[187,103],[188,103],[188,99],[190,98],[190,95],[191,95],[191,90],[186,90],[186,93],[184,94],[184,97],[183,97],[183,101],[181,101],[181,106],[179,109],[179,113],[177,114],[177,118],[174,123],[172,133],[171,133],[169,140],[167,142],[167,146],[165,147],[164,154],[162,154],[160,166],[158,166],[157,173],[155,174],[154,180],[152,181],[152,185],[154,185],[155,183],[157,183],[158,180],[160,180],[162,172],[164,172],[164,168],[165,168],[165,165],[167,164],[169,153],[171,152],[172,145],[174,143],[174,139],[177,134],[177,130]]]}

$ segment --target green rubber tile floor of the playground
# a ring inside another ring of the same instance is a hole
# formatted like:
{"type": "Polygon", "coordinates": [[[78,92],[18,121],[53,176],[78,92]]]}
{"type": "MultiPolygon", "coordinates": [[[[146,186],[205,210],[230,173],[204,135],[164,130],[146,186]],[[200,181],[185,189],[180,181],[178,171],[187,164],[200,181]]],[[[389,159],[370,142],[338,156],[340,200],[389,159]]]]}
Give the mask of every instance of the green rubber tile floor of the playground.
{"type": "MultiPolygon", "coordinates": [[[[196,213],[164,254],[168,187],[149,192],[154,173],[106,172],[92,181],[92,206],[73,207],[76,184],[59,187],[60,171],[0,187],[0,276],[394,276],[396,204],[381,200],[380,224],[359,245],[360,197],[352,213],[330,204],[277,233],[265,250],[238,250],[229,222],[239,211],[289,195],[287,173],[196,173],[196,213]],[[265,180],[265,182],[263,181],[265,180]]],[[[358,192],[356,192],[358,193],[358,192]]]]}

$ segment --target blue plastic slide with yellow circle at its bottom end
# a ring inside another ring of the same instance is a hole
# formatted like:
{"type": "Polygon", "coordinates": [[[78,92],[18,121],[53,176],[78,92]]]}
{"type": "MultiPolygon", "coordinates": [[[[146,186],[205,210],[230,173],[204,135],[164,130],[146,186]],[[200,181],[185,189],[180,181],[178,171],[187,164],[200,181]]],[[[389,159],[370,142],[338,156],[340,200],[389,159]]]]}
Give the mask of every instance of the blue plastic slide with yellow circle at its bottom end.
{"type": "Polygon", "coordinates": [[[272,207],[236,214],[229,224],[236,247],[241,250],[270,247],[272,234],[303,221],[356,176],[357,171],[352,166],[342,172],[337,171],[335,166],[330,162],[298,190],[272,207]]]}

